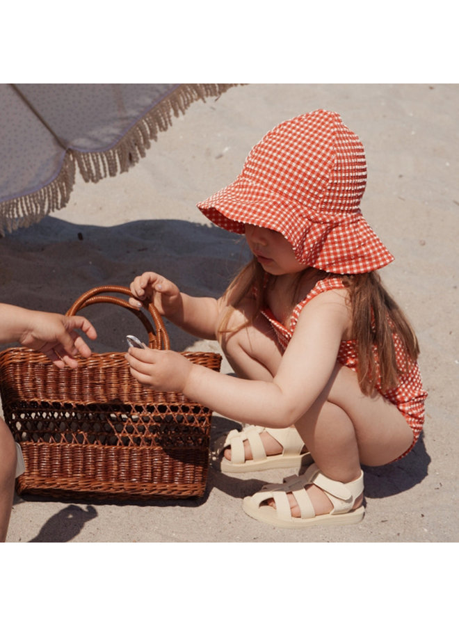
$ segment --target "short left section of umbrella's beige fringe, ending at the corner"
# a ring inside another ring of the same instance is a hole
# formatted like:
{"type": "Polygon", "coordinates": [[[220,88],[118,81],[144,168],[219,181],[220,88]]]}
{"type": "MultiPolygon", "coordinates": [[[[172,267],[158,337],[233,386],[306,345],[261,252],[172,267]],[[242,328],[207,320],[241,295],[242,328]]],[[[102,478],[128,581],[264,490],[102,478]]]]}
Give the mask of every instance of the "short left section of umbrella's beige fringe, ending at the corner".
{"type": "Polygon", "coordinates": [[[49,184],[37,191],[13,200],[1,202],[0,236],[39,222],[65,207],[75,182],[75,163],[72,154],[65,154],[61,171],[49,184]]]}

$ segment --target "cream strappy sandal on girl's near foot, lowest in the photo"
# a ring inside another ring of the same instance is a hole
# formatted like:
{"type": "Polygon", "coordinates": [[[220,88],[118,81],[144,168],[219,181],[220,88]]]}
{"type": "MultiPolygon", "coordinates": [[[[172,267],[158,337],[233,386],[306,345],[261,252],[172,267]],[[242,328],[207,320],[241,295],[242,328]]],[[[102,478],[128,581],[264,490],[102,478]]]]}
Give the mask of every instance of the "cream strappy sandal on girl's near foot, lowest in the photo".
{"type": "Polygon", "coordinates": [[[305,528],[319,524],[357,524],[363,519],[365,508],[352,510],[355,500],[364,490],[363,472],[350,483],[340,483],[327,478],[314,463],[302,476],[288,476],[280,484],[264,485],[261,491],[243,499],[242,508],[255,520],[281,528],[305,528]],[[317,485],[332,501],[333,510],[325,515],[316,515],[306,485],[317,485]],[[292,517],[287,493],[293,493],[301,517],[292,517]],[[275,508],[266,504],[272,498],[275,508]]]}

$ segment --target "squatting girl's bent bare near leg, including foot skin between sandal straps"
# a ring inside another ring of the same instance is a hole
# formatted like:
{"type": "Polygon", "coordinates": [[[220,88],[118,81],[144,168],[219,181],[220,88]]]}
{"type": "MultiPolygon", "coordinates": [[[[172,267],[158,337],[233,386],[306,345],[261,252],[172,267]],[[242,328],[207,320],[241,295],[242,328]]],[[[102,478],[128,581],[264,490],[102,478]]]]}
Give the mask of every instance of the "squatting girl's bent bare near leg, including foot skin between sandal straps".
{"type": "MultiPolygon", "coordinates": [[[[385,465],[394,460],[410,447],[413,438],[401,412],[378,393],[364,396],[355,372],[339,364],[296,428],[321,472],[342,483],[357,479],[360,463],[385,465]]],[[[316,515],[332,510],[320,488],[309,485],[307,490],[316,515]]],[[[292,515],[299,516],[296,500],[289,498],[292,515]]],[[[357,499],[355,508],[362,499],[357,499]]]]}

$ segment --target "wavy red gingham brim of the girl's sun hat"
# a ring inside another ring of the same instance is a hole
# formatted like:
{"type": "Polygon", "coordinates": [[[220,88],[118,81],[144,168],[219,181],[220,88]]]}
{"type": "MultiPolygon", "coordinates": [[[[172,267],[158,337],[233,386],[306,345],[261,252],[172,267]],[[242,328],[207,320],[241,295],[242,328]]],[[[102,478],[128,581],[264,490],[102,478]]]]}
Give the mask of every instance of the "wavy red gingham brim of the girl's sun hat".
{"type": "Polygon", "coordinates": [[[394,260],[360,210],[317,214],[243,175],[197,206],[212,223],[230,232],[243,234],[245,224],[251,224],[282,233],[305,266],[357,274],[394,260]]]}

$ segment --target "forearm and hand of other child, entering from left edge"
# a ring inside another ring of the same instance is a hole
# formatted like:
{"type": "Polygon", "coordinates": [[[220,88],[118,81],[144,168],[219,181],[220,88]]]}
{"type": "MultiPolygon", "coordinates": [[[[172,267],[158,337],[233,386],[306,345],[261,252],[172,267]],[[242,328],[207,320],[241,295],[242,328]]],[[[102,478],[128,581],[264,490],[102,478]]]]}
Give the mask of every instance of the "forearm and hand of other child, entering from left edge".
{"type": "Polygon", "coordinates": [[[79,315],[66,316],[0,304],[0,344],[17,342],[38,350],[57,367],[77,367],[74,356],[78,353],[90,356],[90,348],[77,329],[90,339],[97,337],[92,324],[79,315]]]}

